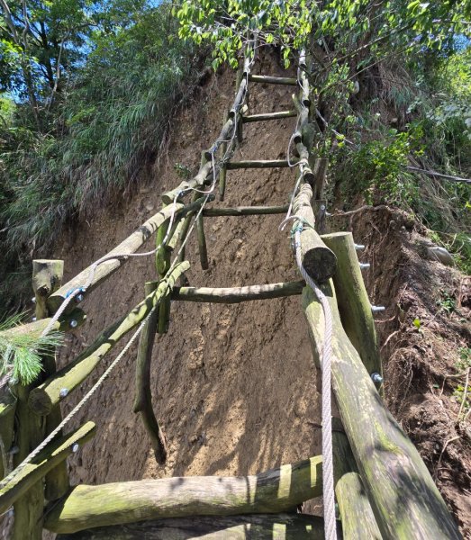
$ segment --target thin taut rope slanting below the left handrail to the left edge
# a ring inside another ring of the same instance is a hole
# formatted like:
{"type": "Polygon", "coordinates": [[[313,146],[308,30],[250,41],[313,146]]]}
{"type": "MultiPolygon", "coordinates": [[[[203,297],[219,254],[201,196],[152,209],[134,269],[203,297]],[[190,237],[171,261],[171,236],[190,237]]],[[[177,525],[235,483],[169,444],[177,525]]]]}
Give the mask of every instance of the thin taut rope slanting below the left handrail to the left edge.
{"type": "Polygon", "coordinates": [[[18,473],[20,473],[27,464],[31,463],[32,459],[34,459],[36,455],[38,455],[41,452],[41,450],[43,450],[44,447],[47,446],[50,443],[50,441],[59,434],[62,428],[67,426],[68,422],[71,419],[73,419],[77,415],[77,412],[82,409],[82,407],[86,404],[87,401],[90,400],[90,398],[95,394],[95,392],[98,390],[101,384],[104,383],[105,379],[107,379],[108,376],[112,373],[116,365],[118,365],[118,363],[122,359],[122,356],[124,356],[128,352],[131,345],[134,343],[136,338],[140,335],[140,332],[144,328],[144,325],[146,324],[152,312],[156,310],[157,307],[159,306],[159,303],[160,302],[157,302],[156,305],[149,311],[146,318],[142,320],[142,322],[140,323],[139,328],[134,332],[134,334],[132,334],[131,339],[128,341],[125,347],[123,347],[121,353],[118,356],[116,356],[113,362],[106,368],[106,370],[104,371],[104,374],[98,379],[98,381],[96,381],[96,383],[92,386],[92,388],[88,392],[86,392],[85,396],[80,401],[78,401],[77,405],[74,407],[74,409],[72,409],[68,413],[67,417],[59,423],[57,428],[53,429],[50,432],[48,437],[46,437],[39,446],[36,446],[36,448],[32,451],[30,455],[24,458],[23,462],[19,464],[16,467],[16,469],[12,471],[12,473],[8,474],[8,476],[6,476],[4,480],[0,482],[0,490],[5,488],[6,484],[8,484],[8,482],[10,482],[18,473]]]}

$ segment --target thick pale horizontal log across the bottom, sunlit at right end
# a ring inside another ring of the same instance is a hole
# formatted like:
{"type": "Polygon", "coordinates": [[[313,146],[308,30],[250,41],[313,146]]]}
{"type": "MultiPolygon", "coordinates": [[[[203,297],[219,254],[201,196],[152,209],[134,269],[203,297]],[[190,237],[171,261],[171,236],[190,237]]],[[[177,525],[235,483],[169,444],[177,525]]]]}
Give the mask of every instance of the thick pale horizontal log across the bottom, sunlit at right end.
{"type": "Polygon", "coordinates": [[[188,476],[79,485],[51,509],[46,527],[73,533],[143,519],[278,513],[322,494],[322,458],[254,476],[188,476]]]}

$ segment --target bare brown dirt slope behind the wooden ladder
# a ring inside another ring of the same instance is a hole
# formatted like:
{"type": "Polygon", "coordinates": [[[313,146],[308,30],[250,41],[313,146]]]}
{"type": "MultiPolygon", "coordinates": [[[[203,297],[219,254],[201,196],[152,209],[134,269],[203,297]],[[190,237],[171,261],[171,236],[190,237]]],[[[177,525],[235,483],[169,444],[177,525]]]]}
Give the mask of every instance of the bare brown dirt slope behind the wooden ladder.
{"type": "MultiPolygon", "coordinates": [[[[281,74],[274,62],[270,64],[258,66],[258,70],[281,74]]],[[[290,107],[292,91],[290,87],[252,85],[250,112],[290,107]]],[[[232,96],[231,73],[211,78],[198,90],[195,103],[175,119],[167,155],[159,166],[142,175],[149,178],[148,184],[137,193],[125,194],[113,207],[99,209],[93,219],[84,220],[63,235],[53,256],[65,260],[66,279],[118,244],[159,209],[159,194],[181,180],[176,168],[182,167],[175,167],[177,164],[195,172],[200,151],[220,130],[232,96]]],[[[294,119],[274,121],[269,129],[267,124],[250,124],[246,129],[249,143],[241,148],[240,157],[285,157],[293,129],[294,119]]],[[[285,204],[294,180],[294,171],[286,169],[231,171],[224,204],[285,204]]],[[[258,216],[205,220],[210,269],[201,270],[192,241],[188,250],[190,284],[236,286],[298,279],[289,238],[277,229],[281,219],[258,216]]],[[[405,332],[397,314],[397,298],[403,298],[403,286],[412,279],[407,273],[409,259],[403,244],[411,243],[415,234],[403,231],[400,220],[394,220],[397,218],[388,212],[367,212],[351,221],[342,218],[332,223],[334,229],[353,227],[355,239],[367,244],[364,257],[372,263],[367,278],[371,300],[388,308],[379,318],[384,322],[378,321],[382,343],[401,329],[388,341],[385,360],[403,347],[403,342],[394,340],[405,332]]],[[[144,282],[154,278],[152,258],[131,260],[86,298],[88,322],[70,338],[67,351],[61,353],[61,363],[77,356],[98,331],[140,302],[144,282]]],[[[448,338],[455,346],[457,339],[448,338]]],[[[155,464],[140,419],[132,413],[135,352],[132,347],[77,418],[77,423],[95,420],[98,431],[95,440],[70,463],[74,482],[256,473],[321,452],[319,394],[299,298],[234,306],[173,303],[170,330],[156,343],[152,368],[155,410],[168,440],[165,467],[155,464]]],[[[95,383],[103,369],[70,396],[65,410],[95,383]]],[[[390,371],[387,368],[386,374],[390,371]]],[[[393,383],[394,376],[391,374],[393,383]]],[[[401,396],[400,385],[393,383],[388,388],[390,405],[400,419],[409,419],[412,402],[399,410],[396,404],[406,395],[401,396]]],[[[421,399],[413,401],[414,407],[429,399],[426,389],[417,392],[421,399]]],[[[406,422],[406,427],[411,426],[406,422]]],[[[413,428],[411,432],[413,437],[413,428]]],[[[427,449],[422,448],[420,440],[416,442],[427,457],[427,449]]],[[[440,439],[437,444],[442,446],[443,442],[440,439]]],[[[463,479],[469,478],[469,462],[463,467],[463,479]]],[[[451,483],[452,489],[446,482],[440,487],[468,532],[468,494],[463,484],[451,483]]]]}

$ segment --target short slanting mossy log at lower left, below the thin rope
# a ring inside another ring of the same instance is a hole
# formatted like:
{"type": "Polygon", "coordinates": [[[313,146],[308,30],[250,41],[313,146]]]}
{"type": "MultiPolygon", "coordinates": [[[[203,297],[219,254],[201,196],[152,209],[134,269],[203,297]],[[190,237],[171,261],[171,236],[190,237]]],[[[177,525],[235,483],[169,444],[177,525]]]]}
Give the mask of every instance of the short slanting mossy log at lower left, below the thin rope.
{"type": "MultiPolygon", "coordinates": [[[[72,455],[75,445],[81,446],[94,436],[95,424],[86,422],[81,428],[68,433],[65,437],[52,441],[32,459],[31,463],[24,465],[17,474],[13,473],[11,480],[0,489],[0,513],[9,509],[33,486],[41,482],[47,473],[72,455]]],[[[27,532],[23,530],[23,534],[25,534],[23,538],[26,538],[27,532]]]]}

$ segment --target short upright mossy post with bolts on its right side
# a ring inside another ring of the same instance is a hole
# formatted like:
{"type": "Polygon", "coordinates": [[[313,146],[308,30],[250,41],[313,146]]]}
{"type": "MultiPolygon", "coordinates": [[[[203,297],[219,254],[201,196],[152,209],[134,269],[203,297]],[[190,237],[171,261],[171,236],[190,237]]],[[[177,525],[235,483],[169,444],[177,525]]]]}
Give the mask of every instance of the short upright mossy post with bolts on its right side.
{"type": "Polygon", "coordinates": [[[342,326],[368,374],[383,374],[375,320],[358,265],[353,236],[351,232],[334,232],[322,235],[321,238],[337,257],[337,272],[332,279],[342,326]]]}

